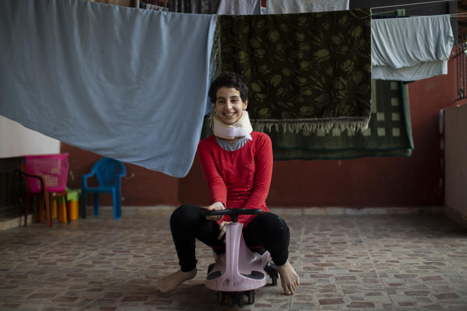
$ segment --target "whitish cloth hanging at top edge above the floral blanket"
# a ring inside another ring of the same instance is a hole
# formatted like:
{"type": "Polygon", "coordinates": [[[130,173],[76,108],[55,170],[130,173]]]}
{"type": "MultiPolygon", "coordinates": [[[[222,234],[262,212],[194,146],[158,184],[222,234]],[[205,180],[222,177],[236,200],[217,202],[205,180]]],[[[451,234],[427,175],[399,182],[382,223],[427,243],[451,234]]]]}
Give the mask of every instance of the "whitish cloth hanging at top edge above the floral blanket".
{"type": "Polygon", "coordinates": [[[268,0],[267,14],[311,13],[349,9],[349,0],[268,0]]]}

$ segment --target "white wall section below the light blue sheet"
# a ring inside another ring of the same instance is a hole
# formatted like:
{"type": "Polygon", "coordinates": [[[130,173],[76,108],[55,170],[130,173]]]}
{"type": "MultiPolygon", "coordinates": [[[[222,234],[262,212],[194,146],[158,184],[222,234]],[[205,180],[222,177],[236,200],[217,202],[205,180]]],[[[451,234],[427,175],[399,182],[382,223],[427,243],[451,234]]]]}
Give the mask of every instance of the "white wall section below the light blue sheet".
{"type": "Polygon", "coordinates": [[[60,153],[59,140],[0,116],[0,158],[58,153],[60,153]]]}

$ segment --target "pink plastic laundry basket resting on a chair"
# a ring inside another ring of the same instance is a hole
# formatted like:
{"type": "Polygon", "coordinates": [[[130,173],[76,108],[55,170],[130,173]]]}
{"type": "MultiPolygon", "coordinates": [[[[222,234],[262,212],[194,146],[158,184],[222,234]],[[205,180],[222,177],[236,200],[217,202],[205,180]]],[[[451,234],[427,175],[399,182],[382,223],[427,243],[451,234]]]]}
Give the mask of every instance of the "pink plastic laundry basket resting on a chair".
{"type": "MultiPolygon", "coordinates": [[[[63,191],[68,179],[68,154],[56,155],[26,155],[28,173],[44,178],[48,191],[63,191]]],[[[29,178],[32,192],[39,192],[40,182],[37,178],[29,178]]]]}

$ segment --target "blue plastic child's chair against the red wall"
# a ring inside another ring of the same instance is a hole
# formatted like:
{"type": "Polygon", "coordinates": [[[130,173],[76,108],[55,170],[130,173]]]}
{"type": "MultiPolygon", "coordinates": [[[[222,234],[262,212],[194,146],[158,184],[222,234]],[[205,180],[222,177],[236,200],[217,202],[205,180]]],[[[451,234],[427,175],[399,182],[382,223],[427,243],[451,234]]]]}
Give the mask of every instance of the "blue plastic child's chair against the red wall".
{"type": "Polygon", "coordinates": [[[119,160],[104,157],[92,166],[90,173],[81,177],[81,217],[86,218],[86,198],[88,193],[93,194],[94,215],[99,215],[99,194],[111,193],[113,200],[113,216],[122,216],[122,203],[120,201],[121,178],[126,175],[125,165],[119,160]],[[96,175],[99,187],[88,187],[87,179],[96,175]]]}

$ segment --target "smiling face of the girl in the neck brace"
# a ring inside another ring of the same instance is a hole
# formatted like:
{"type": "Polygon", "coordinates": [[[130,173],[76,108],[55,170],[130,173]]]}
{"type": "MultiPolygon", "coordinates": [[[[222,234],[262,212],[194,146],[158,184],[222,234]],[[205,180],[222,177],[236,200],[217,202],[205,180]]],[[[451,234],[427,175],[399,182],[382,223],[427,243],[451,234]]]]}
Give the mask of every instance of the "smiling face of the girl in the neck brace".
{"type": "Polygon", "coordinates": [[[219,87],[216,97],[214,111],[226,124],[234,124],[242,116],[243,110],[247,109],[248,100],[242,102],[240,91],[234,87],[219,87]]]}

